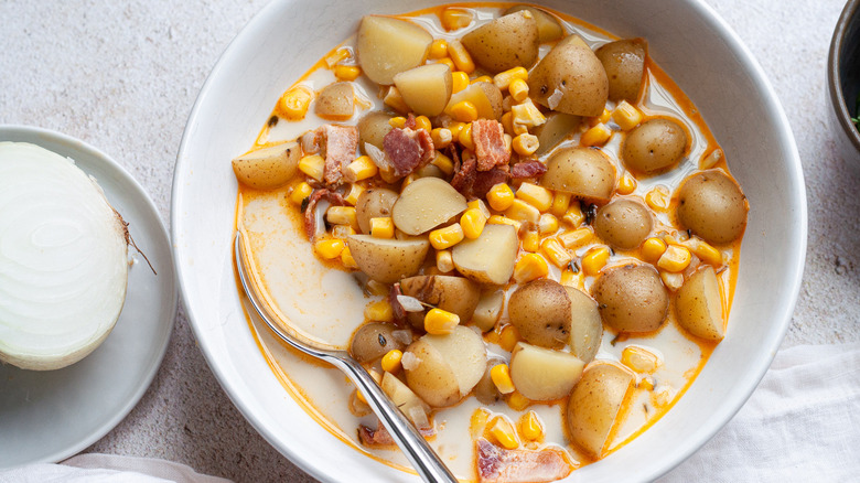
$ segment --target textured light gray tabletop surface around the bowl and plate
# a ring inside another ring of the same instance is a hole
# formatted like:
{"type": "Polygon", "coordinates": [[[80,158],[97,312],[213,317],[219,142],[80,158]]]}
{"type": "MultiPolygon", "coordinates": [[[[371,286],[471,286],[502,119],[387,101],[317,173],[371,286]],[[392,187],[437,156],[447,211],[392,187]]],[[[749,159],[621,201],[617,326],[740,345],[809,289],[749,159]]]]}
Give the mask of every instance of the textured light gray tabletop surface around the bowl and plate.
{"type": "MultiPolygon", "coordinates": [[[[173,163],[197,92],[265,3],[2,0],[0,124],[54,129],[98,147],[137,178],[169,223],[173,163]]],[[[784,346],[860,341],[860,165],[838,153],[825,97],[827,50],[843,2],[707,3],[761,63],[804,164],[809,248],[784,346]]],[[[152,386],[86,451],[163,458],[240,482],[312,481],[234,408],[181,312],[152,386]]]]}

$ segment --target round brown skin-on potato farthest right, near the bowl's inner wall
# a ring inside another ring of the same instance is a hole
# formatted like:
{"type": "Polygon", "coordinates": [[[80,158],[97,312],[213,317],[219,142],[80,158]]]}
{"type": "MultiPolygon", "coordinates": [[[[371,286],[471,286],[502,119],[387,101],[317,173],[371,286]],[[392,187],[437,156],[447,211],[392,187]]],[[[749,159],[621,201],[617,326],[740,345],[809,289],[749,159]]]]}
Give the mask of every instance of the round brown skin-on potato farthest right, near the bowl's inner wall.
{"type": "Polygon", "coordinates": [[[749,210],[741,187],[720,170],[696,173],[678,190],[678,222],[714,245],[743,234],[749,210]]]}

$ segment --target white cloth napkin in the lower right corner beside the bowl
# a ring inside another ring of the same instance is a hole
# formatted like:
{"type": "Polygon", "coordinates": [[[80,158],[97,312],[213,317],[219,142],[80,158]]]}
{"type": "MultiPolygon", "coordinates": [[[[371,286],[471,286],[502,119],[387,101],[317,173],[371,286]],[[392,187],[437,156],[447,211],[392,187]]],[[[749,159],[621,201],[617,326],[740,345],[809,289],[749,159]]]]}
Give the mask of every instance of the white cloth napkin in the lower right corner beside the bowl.
{"type": "Polygon", "coordinates": [[[776,354],[738,415],[659,483],[860,481],[860,344],[776,354]]]}

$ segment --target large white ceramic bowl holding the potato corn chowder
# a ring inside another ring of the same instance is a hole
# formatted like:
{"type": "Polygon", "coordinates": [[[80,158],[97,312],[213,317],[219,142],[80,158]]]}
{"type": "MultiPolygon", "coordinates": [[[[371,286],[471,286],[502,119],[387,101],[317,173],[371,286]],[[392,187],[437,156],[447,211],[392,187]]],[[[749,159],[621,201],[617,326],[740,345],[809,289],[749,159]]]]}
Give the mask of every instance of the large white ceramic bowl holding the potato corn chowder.
{"type": "MultiPolygon", "coordinates": [[[[278,450],[324,481],[417,481],[342,443],[284,394],[246,324],[234,279],[236,180],[230,159],[251,146],[278,97],[361,15],[439,2],[275,1],[236,37],[189,119],[173,184],[172,230],[189,316],[208,363],[245,417],[278,450]],[[332,462],[337,464],[332,464],[332,462]]],[[[806,251],[806,193],[788,122],[757,63],[700,1],[547,0],[649,53],[687,93],[730,160],[751,206],[729,330],[680,401],[634,442],[568,481],[653,480],[684,461],[740,409],[791,322],[806,251]],[[635,469],[635,471],[631,471],[635,469]]]]}

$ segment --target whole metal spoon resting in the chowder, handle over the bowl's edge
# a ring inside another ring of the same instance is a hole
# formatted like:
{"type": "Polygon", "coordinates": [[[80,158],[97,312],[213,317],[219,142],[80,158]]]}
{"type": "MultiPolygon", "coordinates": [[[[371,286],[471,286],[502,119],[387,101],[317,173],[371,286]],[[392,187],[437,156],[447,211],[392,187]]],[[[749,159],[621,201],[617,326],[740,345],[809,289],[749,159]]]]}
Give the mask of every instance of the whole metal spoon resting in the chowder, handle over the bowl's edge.
{"type": "MultiPolygon", "coordinates": [[[[277,322],[276,316],[271,314],[268,304],[262,303],[264,297],[257,291],[257,286],[250,280],[250,273],[246,264],[249,262],[247,247],[243,239],[241,229],[236,232],[235,243],[236,267],[239,271],[239,280],[248,297],[251,307],[257,314],[266,322],[266,325],[275,332],[283,342],[297,350],[327,362],[329,364],[343,371],[344,374],[362,391],[368,406],[373,409],[388,432],[394,438],[397,446],[406,454],[406,458],[412,463],[418,474],[429,483],[455,483],[458,480],[445,466],[439,455],[436,454],[427,440],[418,432],[412,423],[404,416],[400,409],[391,402],[391,399],[383,393],[383,389],[376,384],[365,368],[358,364],[346,351],[330,350],[320,347],[302,337],[293,331],[286,330],[277,322]]],[[[249,251],[249,250],[248,250],[249,251]]]]}

